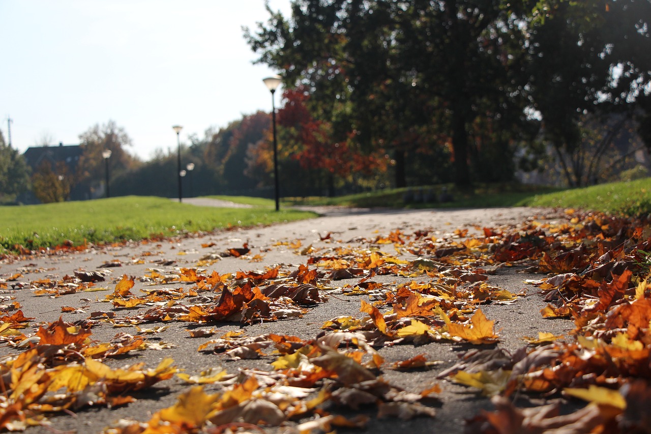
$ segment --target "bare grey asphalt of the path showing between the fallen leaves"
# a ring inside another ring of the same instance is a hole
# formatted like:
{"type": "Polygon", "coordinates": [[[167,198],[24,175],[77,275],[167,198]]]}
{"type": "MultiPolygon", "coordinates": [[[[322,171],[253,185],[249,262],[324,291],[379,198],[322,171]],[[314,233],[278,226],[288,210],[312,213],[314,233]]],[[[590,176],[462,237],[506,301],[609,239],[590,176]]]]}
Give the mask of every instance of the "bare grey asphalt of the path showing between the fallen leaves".
{"type": "MultiPolygon", "coordinates": [[[[192,203],[191,200],[185,201],[192,203]]],[[[197,203],[197,205],[200,205],[197,203]]],[[[204,201],[203,205],[210,205],[204,201]]],[[[225,206],[223,203],[213,205],[225,206]]],[[[300,241],[303,248],[312,245],[314,248],[334,248],[335,246],[360,246],[365,245],[370,239],[378,235],[389,235],[391,231],[400,230],[402,233],[415,231],[432,231],[437,237],[450,236],[455,229],[468,229],[469,234],[477,233],[483,227],[503,227],[503,225],[518,225],[523,222],[537,220],[539,222],[561,219],[562,216],[549,209],[532,208],[495,208],[495,209],[454,209],[454,210],[348,210],[340,208],[319,209],[323,215],[311,220],[276,224],[267,227],[235,228],[229,231],[215,231],[178,237],[176,239],[159,240],[156,242],[131,242],[122,246],[105,246],[92,248],[86,252],[65,253],[58,255],[41,255],[18,260],[5,260],[0,263],[0,278],[7,279],[16,273],[22,277],[14,282],[8,282],[8,289],[3,296],[15,297],[20,302],[21,309],[27,317],[35,317],[31,323],[31,330],[35,332],[39,325],[56,321],[62,317],[64,321],[74,323],[89,317],[93,311],[110,311],[112,306],[103,302],[105,295],[111,293],[121,276],[135,276],[135,286],[132,292],[140,289],[153,289],[156,287],[179,287],[182,284],[174,282],[169,285],[158,285],[153,288],[148,283],[141,282],[139,278],[157,269],[161,273],[173,272],[179,268],[196,268],[201,259],[215,257],[220,252],[229,248],[240,248],[247,243],[251,252],[244,257],[223,257],[223,259],[210,263],[205,267],[205,274],[213,270],[220,274],[227,272],[264,270],[266,267],[281,265],[283,269],[293,270],[305,264],[307,256],[301,255],[301,248],[296,248],[300,241]],[[293,246],[292,246],[293,245],[293,246]],[[119,261],[120,267],[106,267],[111,261],[119,261]],[[61,297],[36,297],[30,283],[49,278],[59,280],[63,276],[72,276],[75,271],[104,270],[107,280],[98,285],[104,286],[105,291],[90,293],[72,293],[61,297]],[[81,311],[62,313],[64,306],[81,308],[81,311]]],[[[387,247],[391,250],[391,247],[387,247]]],[[[404,253],[400,259],[413,260],[415,256],[404,253]]],[[[523,273],[523,267],[502,267],[494,270],[489,276],[488,283],[508,289],[512,293],[527,291],[527,297],[519,297],[513,304],[487,304],[482,306],[486,317],[495,321],[495,328],[501,337],[497,348],[509,352],[517,351],[525,345],[523,336],[536,336],[537,332],[552,332],[563,334],[573,328],[570,321],[542,319],[539,311],[546,303],[536,293],[536,288],[524,283],[525,279],[541,278],[538,274],[523,273]]],[[[411,279],[396,276],[377,276],[375,280],[391,285],[408,282],[411,279]]],[[[426,279],[419,278],[419,281],[426,279]]],[[[359,278],[338,280],[331,282],[331,287],[337,289],[348,283],[353,285],[359,278]]],[[[7,300],[7,298],[5,298],[7,300]]],[[[359,307],[365,296],[337,296],[336,291],[325,303],[309,308],[302,318],[286,319],[272,323],[255,325],[240,325],[234,323],[213,323],[202,325],[203,328],[218,328],[227,332],[242,331],[247,336],[257,336],[273,332],[275,334],[288,334],[299,338],[314,338],[321,332],[320,326],[329,319],[342,315],[363,317],[359,307]]],[[[5,301],[8,302],[8,301],[5,301]]],[[[116,315],[135,315],[137,310],[115,310],[116,315]]],[[[160,325],[160,324],[158,324],[160,325]]],[[[161,344],[161,349],[148,349],[137,353],[130,353],[121,359],[107,360],[110,366],[119,367],[144,362],[147,367],[154,368],[163,358],[171,357],[176,366],[185,369],[186,373],[193,375],[205,369],[221,366],[229,373],[236,374],[238,369],[270,370],[271,358],[260,360],[227,360],[223,354],[210,354],[197,351],[197,347],[205,339],[189,338],[188,329],[193,328],[189,323],[165,323],[169,328],[165,332],[151,335],[152,341],[161,344]]],[[[156,325],[143,325],[156,326],[156,325]]],[[[109,341],[118,332],[137,334],[136,330],[113,328],[110,325],[92,328],[92,338],[96,341],[109,341]]],[[[214,338],[214,337],[213,337],[214,338]]],[[[434,418],[421,417],[411,420],[398,418],[378,419],[376,410],[363,408],[360,411],[346,411],[338,409],[337,412],[348,414],[363,413],[370,416],[365,431],[376,433],[395,433],[409,430],[412,432],[441,432],[461,433],[464,431],[464,420],[471,418],[482,409],[492,409],[489,399],[478,396],[474,391],[446,380],[436,379],[438,373],[449,368],[458,360],[460,354],[475,347],[447,341],[427,343],[426,345],[395,345],[381,348],[380,354],[387,363],[406,360],[417,354],[426,354],[428,360],[437,364],[431,369],[415,371],[383,371],[381,375],[392,384],[401,386],[406,390],[422,390],[428,384],[439,384],[442,392],[433,404],[436,408],[434,418]]],[[[494,348],[495,346],[480,345],[480,348],[494,348]]],[[[0,347],[0,356],[16,354],[17,349],[5,346],[0,347]]],[[[51,416],[49,419],[52,428],[61,431],[74,431],[77,433],[100,433],[105,427],[112,426],[122,418],[130,418],[146,422],[151,414],[159,409],[170,407],[176,402],[178,395],[189,386],[174,377],[144,390],[135,397],[137,401],[114,409],[90,408],[83,409],[74,415],[63,414],[51,416]]],[[[206,390],[219,390],[219,386],[208,385],[206,390]]],[[[526,397],[519,397],[525,399],[526,397]]],[[[540,405],[542,401],[527,401],[523,405],[540,405]]],[[[266,429],[268,432],[277,429],[266,429]]],[[[280,430],[282,431],[282,429],[280,430]]],[[[339,429],[339,432],[347,432],[339,429]]],[[[356,430],[353,430],[356,431],[356,430]]],[[[43,427],[33,427],[27,433],[46,432],[43,427]]],[[[352,432],[352,431],[351,431],[352,432]]]]}

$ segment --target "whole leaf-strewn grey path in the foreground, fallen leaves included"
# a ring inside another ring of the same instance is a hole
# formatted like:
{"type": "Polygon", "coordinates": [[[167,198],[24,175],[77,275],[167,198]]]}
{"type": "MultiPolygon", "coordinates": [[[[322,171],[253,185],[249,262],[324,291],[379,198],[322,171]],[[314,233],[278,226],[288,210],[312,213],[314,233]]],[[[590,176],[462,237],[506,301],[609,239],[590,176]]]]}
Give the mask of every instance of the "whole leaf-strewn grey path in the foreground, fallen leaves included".
{"type": "Polygon", "coordinates": [[[419,211],[4,257],[0,428],[648,432],[650,237],[419,211]]]}

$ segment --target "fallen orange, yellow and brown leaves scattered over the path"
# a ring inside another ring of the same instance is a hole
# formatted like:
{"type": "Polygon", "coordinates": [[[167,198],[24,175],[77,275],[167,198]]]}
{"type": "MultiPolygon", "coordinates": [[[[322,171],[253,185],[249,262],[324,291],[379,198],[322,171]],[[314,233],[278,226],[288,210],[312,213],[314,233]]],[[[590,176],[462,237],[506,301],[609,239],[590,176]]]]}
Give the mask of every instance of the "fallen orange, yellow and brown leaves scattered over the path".
{"type": "MultiPolygon", "coordinates": [[[[547,274],[529,282],[540,288],[548,303],[540,315],[572,318],[575,329],[567,336],[540,333],[526,338],[528,345],[514,354],[494,345],[473,349],[454,366],[437,372],[441,381],[464,384],[492,397],[495,412],[469,420],[469,431],[651,429],[640,404],[651,399],[647,222],[568,211],[566,219],[553,224],[531,220],[439,235],[433,230],[410,234],[396,230],[344,245],[330,242],[332,235],[327,234],[320,246],[282,244],[305,259],[298,267],[276,265],[234,274],[200,268],[224,256],[256,261],[258,255],[251,255],[245,244],[207,255],[196,268],[152,269],[139,278],[143,295],[132,292],[137,279],[124,275],[103,300],[112,308],[92,311],[74,324],[59,319],[33,334],[26,332],[31,318],[23,315],[17,302],[3,305],[0,341],[14,353],[0,360],[0,429],[47,424],[46,414],[51,412],[127,405],[134,399],[132,392],[175,374],[193,384],[175,405],[148,421],[124,420],[106,432],[221,433],[251,426],[327,432],[333,427],[365,426],[366,416],[344,417],[337,411],[340,407],[374,406],[378,417],[433,417],[439,383],[408,391],[389,383],[382,373],[436,369],[436,364],[424,355],[388,363],[381,349],[437,341],[499,342],[499,330],[480,306],[512,304],[523,295],[487,282],[500,267],[516,265],[547,274]],[[384,276],[406,283],[382,283],[387,282],[384,276]],[[197,351],[231,360],[262,358],[270,366],[265,371],[240,369],[234,374],[215,368],[185,373],[169,358],[156,368],[109,367],[111,358],[165,348],[165,343],[148,340],[150,334],[165,331],[167,325],[161,323],[249,325],[294,319],[332,297],[361,297],[360,315],[332,318],[309,339],[246,336],[214,327],[189,330],[191,338],[211,338],[197,351]],[[144,326],[152,323],[151,328],[144,326]],[[119,333],[98,343],[90,338],[91,329],[102,325],[133,326],[138,333],[119,333]],[[520,393],[585,399],[590,404],[563,415],[559,405],[519,409],[509,398],[520,393]]],[[[59,281],[36,280],[20,287],[32,289],[35,296],[61,297],[95,291],[107,276],[105,271],[80,271],[59,281]]],[[[7,282],[4,285],[8,288],[7,282]]]]}

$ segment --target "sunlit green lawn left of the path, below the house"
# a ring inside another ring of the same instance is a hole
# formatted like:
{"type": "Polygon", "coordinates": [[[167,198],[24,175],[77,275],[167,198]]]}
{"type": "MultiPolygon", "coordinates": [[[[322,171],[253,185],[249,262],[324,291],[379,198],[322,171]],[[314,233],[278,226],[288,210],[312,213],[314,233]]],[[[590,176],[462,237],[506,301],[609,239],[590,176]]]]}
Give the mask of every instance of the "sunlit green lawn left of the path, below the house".
{"type": "MultiPolygon", "coordinates": [[[[244,201],[244,199],[241,199],[244,201]]],[[[252,203],[253,202],[253,203],[252,203]]],[[[275,212],[263,201],[254,208],[196,207],[161,197],[112,197],[92,201],[0,207],[0,251],[49,248],[72,241],[110,243],[212,231],[229,226],[253,226],[311,218],[297,210],[275,212]]]]}

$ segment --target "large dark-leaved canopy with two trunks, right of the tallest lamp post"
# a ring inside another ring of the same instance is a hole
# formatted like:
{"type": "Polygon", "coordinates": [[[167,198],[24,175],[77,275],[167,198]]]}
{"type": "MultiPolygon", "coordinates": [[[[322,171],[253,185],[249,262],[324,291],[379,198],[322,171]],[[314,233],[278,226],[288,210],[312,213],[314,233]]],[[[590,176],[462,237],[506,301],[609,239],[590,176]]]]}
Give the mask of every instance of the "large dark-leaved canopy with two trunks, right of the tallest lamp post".
{"type": "Polygon", "coordinates": [[[269,22],[246,36],[258,61],[283,70],[290,87],[305,85],[323,115],[352,104],[350,131],[394,150],[397,185],[406,137],[420,130],[451,137],[455,181],[467,186],[471,124],[523,108],[521,56],[510,50],[535,2],[511,3],[297,0],[290,20],[269,10],[269,22]],[[487,113],[487,103],[498,109],[487,113]]]}

